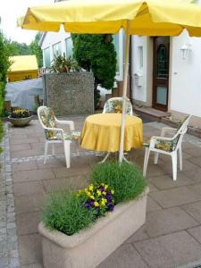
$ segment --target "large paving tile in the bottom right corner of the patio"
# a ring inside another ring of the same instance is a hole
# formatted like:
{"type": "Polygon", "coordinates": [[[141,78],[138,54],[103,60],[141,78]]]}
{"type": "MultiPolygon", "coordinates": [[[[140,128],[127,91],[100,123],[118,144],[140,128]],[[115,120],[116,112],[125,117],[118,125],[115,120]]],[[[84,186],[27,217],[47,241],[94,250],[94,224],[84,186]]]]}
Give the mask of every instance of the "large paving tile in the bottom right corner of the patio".
{"type": "Polygon", "coordinates": [[[135,242],[134,246],[151,268],[172,268],[200,259],[201,246],[185,230],[155,239],[135,242]]]}

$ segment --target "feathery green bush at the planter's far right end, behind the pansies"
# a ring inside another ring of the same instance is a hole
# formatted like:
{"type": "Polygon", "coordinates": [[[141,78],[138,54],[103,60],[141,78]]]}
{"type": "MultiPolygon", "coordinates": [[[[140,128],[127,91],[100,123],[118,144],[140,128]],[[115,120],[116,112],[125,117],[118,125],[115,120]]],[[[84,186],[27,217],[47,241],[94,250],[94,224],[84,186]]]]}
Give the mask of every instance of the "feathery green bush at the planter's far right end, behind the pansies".
{"type": "Polygon", "coordinates": [[[110,185],[114,189],[115,204],[138,197],[147,186],[136,164],[118,162],[96,164],[90,182],[110,185]]]}

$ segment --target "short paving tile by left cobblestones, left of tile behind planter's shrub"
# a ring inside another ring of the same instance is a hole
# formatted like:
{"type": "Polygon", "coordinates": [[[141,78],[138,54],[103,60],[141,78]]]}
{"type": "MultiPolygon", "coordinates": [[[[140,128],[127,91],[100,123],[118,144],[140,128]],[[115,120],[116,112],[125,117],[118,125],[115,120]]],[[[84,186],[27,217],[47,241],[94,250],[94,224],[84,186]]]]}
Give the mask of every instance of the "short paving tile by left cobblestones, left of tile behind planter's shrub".
{"type": "Polygon", "coordinates": [[[42,181],[29,181],[13,184],[13,192],[15,197],[29,196],[37,193],[44,193],[42,181]]]}

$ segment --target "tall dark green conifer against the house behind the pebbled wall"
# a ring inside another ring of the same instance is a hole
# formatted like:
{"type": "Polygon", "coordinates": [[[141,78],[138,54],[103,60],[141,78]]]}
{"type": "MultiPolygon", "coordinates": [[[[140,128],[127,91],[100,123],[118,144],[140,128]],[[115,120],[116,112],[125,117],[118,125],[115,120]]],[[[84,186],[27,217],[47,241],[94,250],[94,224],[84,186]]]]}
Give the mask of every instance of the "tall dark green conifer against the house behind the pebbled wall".
{"type": "Polygon", "coordinates": [[[97,86],[113,88],[116,75],[116,52],[113,45],[113,36],[71,34],[73,41],[73,56],[86,71],[93,71],[95,77],[94,103],[99,104],[97,86]]]}

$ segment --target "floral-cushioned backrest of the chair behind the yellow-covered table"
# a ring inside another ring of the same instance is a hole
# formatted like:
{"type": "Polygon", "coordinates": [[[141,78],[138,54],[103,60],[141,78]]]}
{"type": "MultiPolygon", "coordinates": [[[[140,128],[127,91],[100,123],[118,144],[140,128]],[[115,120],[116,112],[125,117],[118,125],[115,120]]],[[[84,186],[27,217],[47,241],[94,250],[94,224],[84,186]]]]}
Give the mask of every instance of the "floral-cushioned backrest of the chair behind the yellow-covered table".
{"type": "MultiPolygon", "coordinates": [[[[122,113],[122,97],[109,98],[105,102],[103,113],[122,113]]],[[[128,98],[126,99],[126,114],[132,115],[132,105],[128,98]]]]}

